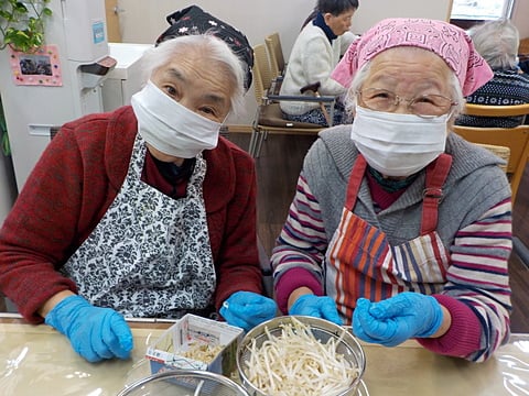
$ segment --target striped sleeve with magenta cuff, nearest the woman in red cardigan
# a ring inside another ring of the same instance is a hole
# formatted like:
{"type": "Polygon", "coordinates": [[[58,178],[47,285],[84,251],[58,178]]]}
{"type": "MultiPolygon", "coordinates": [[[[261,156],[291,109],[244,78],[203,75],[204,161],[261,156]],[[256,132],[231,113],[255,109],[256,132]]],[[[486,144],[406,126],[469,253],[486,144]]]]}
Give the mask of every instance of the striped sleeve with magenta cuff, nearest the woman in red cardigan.
{"type": "Polygon", "coordinates": [[[287,221],[271,256],[278,302],[285,300],[293,289],[301,286],[311,287],[316,295],[321,295],[322,262],[326,249],[327,238],[320,204],[311,193],[302,172],[287,221]],[[293,268],[296,268],[295,280],[282,282],[282,275],[293,268]],[[304,276],[300,270],[304,270],[304,276]],[[317,280],[321,288],[310,286],[314,285],[313,279],[317,280]]]}

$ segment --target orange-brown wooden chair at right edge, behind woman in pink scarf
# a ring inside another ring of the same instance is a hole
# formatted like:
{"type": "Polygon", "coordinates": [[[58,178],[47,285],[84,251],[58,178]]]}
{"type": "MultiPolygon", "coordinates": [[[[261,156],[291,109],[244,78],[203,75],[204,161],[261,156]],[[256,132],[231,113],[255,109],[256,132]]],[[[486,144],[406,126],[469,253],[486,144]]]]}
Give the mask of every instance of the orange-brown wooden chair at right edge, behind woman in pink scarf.
{"type": "MultiPolygon", "coordinates": [[[[467,103],[465,106],[465,114],[481,117],[525,117],[526,114],[529,114],[529,103],[515,106],[482,106],[467,103]]],[[[453,130],[468,142],[509,147],[510,156],[507,164],[507,175],[510,180],[514,204],[521,176],[523,175],[529,158],[529,125],[522,124],[516,128],[454,125],[453,130]]]]}

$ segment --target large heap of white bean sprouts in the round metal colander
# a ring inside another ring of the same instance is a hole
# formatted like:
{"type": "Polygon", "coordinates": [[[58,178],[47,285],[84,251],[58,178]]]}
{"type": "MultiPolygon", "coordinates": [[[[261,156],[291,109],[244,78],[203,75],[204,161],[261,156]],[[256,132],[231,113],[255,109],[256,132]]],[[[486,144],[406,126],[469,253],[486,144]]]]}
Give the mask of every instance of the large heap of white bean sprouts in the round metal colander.
{"type": "Polygon", "coordinates": [[[250,383],[269,396],[333,396],[349,389],[359,369],[336,352],[344,332],[326,343],[317,340],[310,326],[295,318],[280,324],[281,334],[264,329],[260,348],[253,339],[245,374],[250,383]]]}

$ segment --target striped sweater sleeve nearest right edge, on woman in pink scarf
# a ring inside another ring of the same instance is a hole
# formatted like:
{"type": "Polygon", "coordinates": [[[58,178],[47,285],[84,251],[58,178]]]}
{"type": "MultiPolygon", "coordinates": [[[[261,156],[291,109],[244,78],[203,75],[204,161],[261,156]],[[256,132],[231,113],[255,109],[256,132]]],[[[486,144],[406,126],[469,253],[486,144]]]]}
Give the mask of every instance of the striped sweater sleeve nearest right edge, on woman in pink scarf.
{"type": "MultiPolygon", "coordinates": [[[[451,249],[452,265],[442,294],[465,304],[481,323],[479,349],[466,355],[467,360],[487,360],[509,338],[508,260],[512,249],[511,237],[510,198],[487,210],[455,235],[451,249]]],[[[452,327],[461,327],[457,332],[465,333],[464,322],[453,322],[452,327]]],[[[423,343],[424,346],[436,350],[432,341],[447,344],[442,337],[430,339],[423,343]]],[[[453,341],[457,343],[455,339],[453,341]]]]}

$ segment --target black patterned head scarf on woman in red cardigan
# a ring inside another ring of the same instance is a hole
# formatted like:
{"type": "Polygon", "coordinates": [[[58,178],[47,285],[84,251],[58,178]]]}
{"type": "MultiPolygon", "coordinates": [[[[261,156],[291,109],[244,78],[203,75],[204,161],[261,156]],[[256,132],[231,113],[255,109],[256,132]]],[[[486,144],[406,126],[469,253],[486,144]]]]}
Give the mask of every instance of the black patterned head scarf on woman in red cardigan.
{"type": "Polygon", "coordinates": [[[236,28],[220,21],[205,12],[197,6],[191,6],[173,12],[166,18],[171,26],[156,38],[156,45],[161,42],[182,35],[209,33],[226,42],[231,51],[242,61],[245,66],[245,88],[251,85],[251,67],[253,66],[253,51],[248,38],[236,28]]]}

